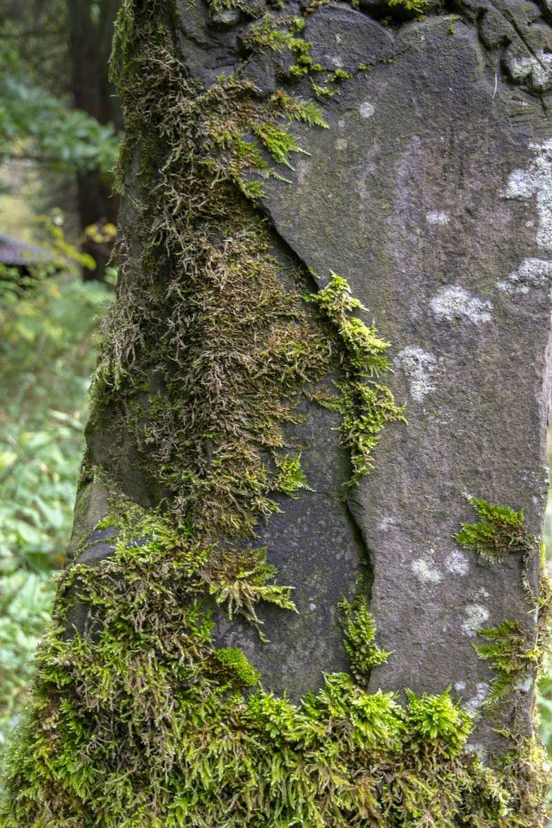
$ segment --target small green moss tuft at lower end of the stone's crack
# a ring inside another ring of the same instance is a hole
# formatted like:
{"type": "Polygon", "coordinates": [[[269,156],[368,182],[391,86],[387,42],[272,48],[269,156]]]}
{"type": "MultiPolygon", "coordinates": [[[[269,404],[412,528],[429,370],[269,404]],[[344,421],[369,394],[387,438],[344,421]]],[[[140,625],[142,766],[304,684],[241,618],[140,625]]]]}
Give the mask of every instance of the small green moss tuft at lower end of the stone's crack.
{"type": "Polygon", "coordinates": [[[376,624],[362,595],[353,604],[343,599],[338,609],[342,615],[343,643],[351,661],[351,673],[362,684],[370,677],[372,667],[386,662],[392,653],[378,647],[376,624]]]}

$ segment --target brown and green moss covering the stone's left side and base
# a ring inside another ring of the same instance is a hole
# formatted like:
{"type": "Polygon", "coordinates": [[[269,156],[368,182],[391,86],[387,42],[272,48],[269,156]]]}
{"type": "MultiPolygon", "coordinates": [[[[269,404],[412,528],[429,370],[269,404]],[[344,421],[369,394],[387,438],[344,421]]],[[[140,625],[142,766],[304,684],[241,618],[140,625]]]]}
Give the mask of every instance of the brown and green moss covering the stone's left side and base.
{"type": "MultiPolygon", "coordinates": [[[[289,50],[291,75],[319,96],[338,94],[347,78],[313,64],[304,22],[269,15],[250,38],[259,51],[289,50]]],[[[382,383],[389,344],[360,318],[348,282],[325,274],[317,291],[304,267],[290,274],[257,206],[262,177],[281,176],[300,151],[292,123],[324,128],[321,110],[284,89],[259,95],[240,70],[202,87],[177,31],[176,4],[122,0],[113,75],[126,110],[127,219],[81,482],[108,489],[96,530],[114,551],[87,566],[84,538],[60,578],[1,824],[538,826],[534,743],[485,767],[448,691],[408,693],[406,704],[367,692],[390,654],[360,599],[340,607],[350,674],[326,675],[296,705],[264,691],[240,649],[214,644],[215,612],[260,627],[259,604],[294,611],[254,528],[278,496],[309,485],[286,429],[300,402],[340,415],[348,485],[403,414],[382,383]],[[94,462],[93,444],[103,446],[94,462]]],[[[506,536],[464,527],[464,540],[499,560],[517,537],[515,513],[484,519],[500,519],[506,536]]]]}

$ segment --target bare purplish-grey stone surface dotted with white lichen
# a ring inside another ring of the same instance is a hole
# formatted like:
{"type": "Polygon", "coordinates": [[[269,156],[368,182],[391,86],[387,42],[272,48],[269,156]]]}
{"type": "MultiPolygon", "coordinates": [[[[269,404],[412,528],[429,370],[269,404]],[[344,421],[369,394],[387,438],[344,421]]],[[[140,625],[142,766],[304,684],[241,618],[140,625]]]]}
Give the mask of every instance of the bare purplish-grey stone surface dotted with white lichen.
{"type": "MultiPolygon", "coordinates": [[[[354,76],[324,104],[328,130],[294,126],[309,155],[290,183],[266,183],[281,253],[290,248],[320,286],[332,271],[346,277],[391,340],[390,385],[409,422],[386,431],[347,508],[334,496],[343,460],[331,416],[299,429],[314,491],[285,498],[261,537],[300,614],[272,610],[264,645],[247,628],[218,627],[266,686],[293,697],[343,669],[334,608],[366,554],[372,614],[393,651],[373,689],[452,685],[475,711],[492,678],[473,649],[477,628],[533,623],[521,559],[488,566],[454,533],[471,519],[467,493],[523,508],[537,534],[545,508],[552,35],[534,3],[461,11],[383,26],[365,7],[319,7],[305,27],[310,56],[354,76]]],[[[204,83],[240,61],[266,94],[275,78],[295,83],[286,55],[247,61],[238,12],[211,22],[183,5],[180,20],[183,55],[204,83]]],[[[534,590],[537,578],[535,561],[534,590]]],[[[522,691],[529,715],[532,691],[522,691]]]]}

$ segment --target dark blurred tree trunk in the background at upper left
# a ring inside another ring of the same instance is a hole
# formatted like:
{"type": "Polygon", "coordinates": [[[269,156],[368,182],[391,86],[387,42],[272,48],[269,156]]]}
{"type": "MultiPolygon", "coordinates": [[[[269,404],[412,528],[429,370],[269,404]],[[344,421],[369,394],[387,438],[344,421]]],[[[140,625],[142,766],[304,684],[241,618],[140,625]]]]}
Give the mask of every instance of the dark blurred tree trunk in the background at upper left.
{"type": "MultiPolygon", "coordinates": [[[[67,4],[74,106],[92,115],[98,123],[115,123],[120,128],[121,108],[115,87],[108,79],[113,21],[119,2],[102,0],[98,4],[97,19],[92,5],[89,0],[70,0],[67,4]]],[[[111,256],[111,243],[94,241],[94,234],[85,231],[98,223],[115,224],[118,206],[118,195],[113,193],[113,182],[105,172],[89,170],[77,174],[79,227],[84,234],[81,249],[96,262],[94,271],[83,268],[84,280],[103,282],[111,256]]]]}

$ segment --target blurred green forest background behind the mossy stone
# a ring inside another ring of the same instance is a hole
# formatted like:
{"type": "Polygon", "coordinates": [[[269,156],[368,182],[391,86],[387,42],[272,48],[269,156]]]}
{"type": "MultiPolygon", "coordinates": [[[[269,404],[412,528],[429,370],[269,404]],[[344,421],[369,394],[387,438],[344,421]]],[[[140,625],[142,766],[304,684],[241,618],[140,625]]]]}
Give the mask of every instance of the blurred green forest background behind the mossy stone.
{"type": "MultiPolygon", "coordinates": [[[[117,7],[0,0],[0,779],[70,535],[98,319],[117,278],[117,7]]],[[[552,550],[550,508],[545,540],[552,550]]],[[[552,756],[552,662],[540,711],[552,756]]]]}

